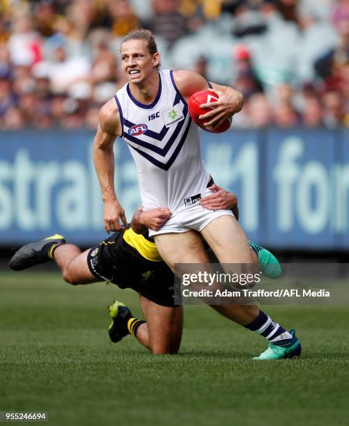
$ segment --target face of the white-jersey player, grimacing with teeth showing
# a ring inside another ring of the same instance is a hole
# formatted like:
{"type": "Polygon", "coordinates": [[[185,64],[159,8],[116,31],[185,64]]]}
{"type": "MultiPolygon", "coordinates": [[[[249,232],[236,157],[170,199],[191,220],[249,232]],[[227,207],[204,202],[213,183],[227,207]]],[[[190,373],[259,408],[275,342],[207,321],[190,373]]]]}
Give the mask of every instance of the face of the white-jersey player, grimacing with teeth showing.
{"type": "Polygon", "coordinates": [[[123,71],[131,83],[144,81],[159,63],[158,53],[151,55],[145,40],[129,40],[121,45],[123,71]]]}

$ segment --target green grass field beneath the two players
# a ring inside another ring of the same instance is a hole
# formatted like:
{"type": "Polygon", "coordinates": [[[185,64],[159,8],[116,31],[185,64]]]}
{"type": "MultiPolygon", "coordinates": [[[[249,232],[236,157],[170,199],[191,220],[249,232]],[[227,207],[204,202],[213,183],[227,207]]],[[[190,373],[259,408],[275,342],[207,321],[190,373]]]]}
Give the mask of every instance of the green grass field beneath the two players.
{"type": "Polygon", "coordinates": [[[258,363],[265,340],[206,306],[185,308],[178,356],[107,336],[114,285],[0,273],[0,411],[47,411],[51,425],[348,425],[349,310],[264,307],[302,340],[302,358],[258,363]]]}

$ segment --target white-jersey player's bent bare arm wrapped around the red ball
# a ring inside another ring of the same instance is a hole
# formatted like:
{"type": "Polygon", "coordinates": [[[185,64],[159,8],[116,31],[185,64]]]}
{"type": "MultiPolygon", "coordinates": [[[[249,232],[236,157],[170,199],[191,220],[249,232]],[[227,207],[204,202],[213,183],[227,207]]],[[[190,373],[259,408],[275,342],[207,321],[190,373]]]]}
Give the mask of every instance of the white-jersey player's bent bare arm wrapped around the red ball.
{"type": "Polygon", "coordinates": [[[210,88],[208,81],[197,72],[189,70],[173,71],[173,79],[186,101],[199,90],[210,90],[218,96],[217,102],[201,105],[201,108],[210,107],[210,111],[199,117],[201,120],[208,120],[205,123],[205,127],[208,129],[221,125],[226,118],[231,118],[235,113],[241,111],[244,104],[244,97],[238,90],[212,82],[210,82],[212,86],[210,88]]]}

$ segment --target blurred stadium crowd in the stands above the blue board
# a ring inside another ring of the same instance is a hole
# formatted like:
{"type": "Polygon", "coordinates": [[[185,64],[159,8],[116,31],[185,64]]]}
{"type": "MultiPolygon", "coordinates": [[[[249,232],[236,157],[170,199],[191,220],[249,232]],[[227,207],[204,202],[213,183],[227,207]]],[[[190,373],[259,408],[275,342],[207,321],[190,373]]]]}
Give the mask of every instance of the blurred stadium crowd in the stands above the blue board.
{"type": "Polygon", "coordinates": [[[245,95],[235,126],[349,126],[349,0],[0,0],[0,127],[95,129],[141,27],[245,95]]]}

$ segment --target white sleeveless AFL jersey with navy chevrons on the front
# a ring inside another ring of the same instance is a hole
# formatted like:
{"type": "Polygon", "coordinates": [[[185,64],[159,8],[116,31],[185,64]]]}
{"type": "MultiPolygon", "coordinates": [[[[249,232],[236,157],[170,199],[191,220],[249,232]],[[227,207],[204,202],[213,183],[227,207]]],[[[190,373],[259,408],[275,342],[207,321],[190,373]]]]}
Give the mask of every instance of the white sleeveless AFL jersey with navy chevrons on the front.
{"type": "Polygon", "coordinates": [[[172,214],[199,202],[209,175],[201,158],[198,128],[173,80],[161,70],[152,104],[138,102],[128,84],[115,95],[123,140],[137,166],[144,210],[169,207],[172,214]]]}

